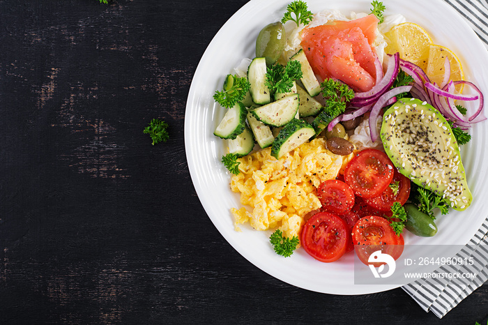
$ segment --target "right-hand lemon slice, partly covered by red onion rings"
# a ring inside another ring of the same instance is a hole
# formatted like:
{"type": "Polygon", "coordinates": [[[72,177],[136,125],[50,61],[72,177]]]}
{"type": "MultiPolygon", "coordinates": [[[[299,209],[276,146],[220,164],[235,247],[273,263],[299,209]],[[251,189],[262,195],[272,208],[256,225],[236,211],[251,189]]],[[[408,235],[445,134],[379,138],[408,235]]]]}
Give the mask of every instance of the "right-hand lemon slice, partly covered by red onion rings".
{"type": "MultiPolygon", "coordinates": [[[[429,80],[431,82],[436,82],[436,84],[438,85],[441,85],[444,79],[444,64],[446,56],[449,59],[451,68],[450,80],[464,80],[464,73],[461,61],[459,61],[456,54],[454,54],[447,47],[431,44],[429,46],[429,59],[427,64],[427,70],[425,70],[425,73],[427,73],[427,77],[429,77],[429,80]]],[[[463,84],[458,84],[456,86],[456,91],[458,93],[460,93],[462,89],[463,84]]]]}

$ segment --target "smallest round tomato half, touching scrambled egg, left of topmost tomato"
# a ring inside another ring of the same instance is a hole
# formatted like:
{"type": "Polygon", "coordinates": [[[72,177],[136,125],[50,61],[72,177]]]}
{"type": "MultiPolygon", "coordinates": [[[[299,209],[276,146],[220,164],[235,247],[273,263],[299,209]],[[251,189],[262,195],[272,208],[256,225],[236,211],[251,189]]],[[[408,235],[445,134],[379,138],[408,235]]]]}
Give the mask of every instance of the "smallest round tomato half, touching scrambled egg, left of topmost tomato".
{"type": "Polygon", "coordinates": [[[336,214],[344,214],[351,211],[354,205],[354,192],[343,181],[329,179],[323,181],[317,188],[322,208],[324,211],[336,214]]]}

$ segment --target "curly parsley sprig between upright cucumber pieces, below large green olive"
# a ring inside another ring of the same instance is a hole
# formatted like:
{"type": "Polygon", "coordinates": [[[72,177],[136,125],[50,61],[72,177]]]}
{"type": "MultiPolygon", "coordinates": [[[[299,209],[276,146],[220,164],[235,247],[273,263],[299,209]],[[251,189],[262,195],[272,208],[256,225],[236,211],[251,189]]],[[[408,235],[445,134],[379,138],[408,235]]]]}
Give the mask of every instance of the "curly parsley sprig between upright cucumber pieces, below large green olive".
{"type": "Polygon", "coordinates": [[[303,76],[300,61],[288,61],[286,66],[276,63],[266,68],[266,86],[272,94],[291,91],[293,82],[303,76]]]}

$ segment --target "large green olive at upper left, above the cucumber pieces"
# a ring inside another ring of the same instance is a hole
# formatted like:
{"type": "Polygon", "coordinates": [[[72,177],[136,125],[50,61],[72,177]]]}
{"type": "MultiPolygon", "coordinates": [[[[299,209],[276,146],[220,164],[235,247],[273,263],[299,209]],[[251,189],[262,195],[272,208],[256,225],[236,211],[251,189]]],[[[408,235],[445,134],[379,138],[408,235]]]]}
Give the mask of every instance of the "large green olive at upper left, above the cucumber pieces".
{"type": "Polygon", "coordinates": [[[277,61],[283,52],[286,35],[281,22],[273,22],[261,29],[256,40],[256,57],[266,57],[266,64],[277,61]]]}

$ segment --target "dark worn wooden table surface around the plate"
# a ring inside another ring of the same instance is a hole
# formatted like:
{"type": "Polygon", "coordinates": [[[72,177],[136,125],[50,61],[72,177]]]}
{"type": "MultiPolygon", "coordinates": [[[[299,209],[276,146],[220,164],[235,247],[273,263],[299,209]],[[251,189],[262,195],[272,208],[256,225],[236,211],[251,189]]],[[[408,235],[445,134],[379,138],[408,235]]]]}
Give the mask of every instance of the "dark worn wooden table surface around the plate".
{"type": "Polygon", "coordinates": [[[287,285],[215,229],[185,103],[245,2],[0,0],[0,324],[486,324],[487,285],[439,320],[402,289],[287,285]]]}

